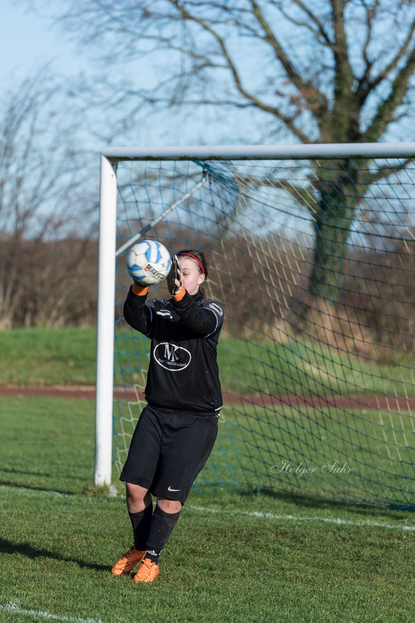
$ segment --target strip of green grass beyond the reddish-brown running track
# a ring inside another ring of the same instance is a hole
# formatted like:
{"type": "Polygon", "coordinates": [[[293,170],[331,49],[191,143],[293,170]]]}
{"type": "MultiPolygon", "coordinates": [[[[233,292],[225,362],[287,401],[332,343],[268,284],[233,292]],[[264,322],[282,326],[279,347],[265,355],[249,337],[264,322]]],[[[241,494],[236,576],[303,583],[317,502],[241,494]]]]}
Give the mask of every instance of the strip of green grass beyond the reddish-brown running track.
{"type": "MultiPolygon", "coordinates": [[[[144,384],[149,340],[129,328],[116,332],[115,378],[122,386],[144,384]]],[[[30,328],[0,331],[0,385],[95,384],[93,328],[30,328]]],[[[415,394],[409,354],[399,364],[357,358],[311,341],[246,341],[221,336],[218,346],[223,391],[296,394],[415,394]]]]}

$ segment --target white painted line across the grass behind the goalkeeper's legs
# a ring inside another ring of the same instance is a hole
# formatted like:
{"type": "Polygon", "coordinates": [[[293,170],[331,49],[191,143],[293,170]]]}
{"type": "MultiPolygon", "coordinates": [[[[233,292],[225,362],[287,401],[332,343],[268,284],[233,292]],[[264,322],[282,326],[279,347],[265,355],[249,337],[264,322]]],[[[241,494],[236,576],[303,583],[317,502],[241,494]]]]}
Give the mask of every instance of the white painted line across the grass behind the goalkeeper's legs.
{"type": "MultiPolygon", "coordinates": [[[[2,489],[11,488],[12,485],[0,485],[0,491],[2,489]]],[[[13,487],[15,488],[15,487],[13,487]]],[[[60,493],[59,491],[46,491],[46,490],[37,490],[37,489],[29,489],[25,487],[19,487],[19,490],[23,490],[26,493],[33,493],[34,495],[39,495],[39,493],[44,493],[45,495],[58,495],[59,497],[71,499],[76,497],[76,493],[60,493]]],[[[124,497],[121,494],[116,495],[116,490],[113,488],[110,491],[110,497],[124,497]]],[[[94,498],[88,498],[93,500],[94,498]]],[[[322,523],[333,523],[338,526],[356,526],[361,528],[386,528],[386,530],[404,530],[407,532],[414,532],[415,525],[399,525],[393,523],[383,523],[381,521],[352,521],[348,519],[330,519],[328,517],[304,517],[301,515],[275,515],[274,513],[259,513],[258,511],[246,511],[246,510],[222,510],[221,508],[206,508],[205,506],[194,506],[191,504],[187,504],[185,508],[191,508],[195,511],[200,511],[202,513],[216,513],[218,515],[226,514],[226,515],[245,515],[248,517],[258,517],[259,519],[271,519],[277,521],[321,521],[322,523]]]]}

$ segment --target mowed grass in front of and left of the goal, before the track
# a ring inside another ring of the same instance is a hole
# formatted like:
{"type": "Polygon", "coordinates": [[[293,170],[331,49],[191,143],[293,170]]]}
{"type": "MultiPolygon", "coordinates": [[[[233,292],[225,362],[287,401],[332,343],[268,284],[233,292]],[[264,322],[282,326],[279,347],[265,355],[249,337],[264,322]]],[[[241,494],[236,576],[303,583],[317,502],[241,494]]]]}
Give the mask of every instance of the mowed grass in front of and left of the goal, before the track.
{"type": "Polygon", "coordinates": [[[83,493],[94,402],[3,397],[0,412],[0,621],[414,620],[415,521],[396,510],[191,493],[157,581],[114,578],[131,526],[122,496],[83,493]]]}

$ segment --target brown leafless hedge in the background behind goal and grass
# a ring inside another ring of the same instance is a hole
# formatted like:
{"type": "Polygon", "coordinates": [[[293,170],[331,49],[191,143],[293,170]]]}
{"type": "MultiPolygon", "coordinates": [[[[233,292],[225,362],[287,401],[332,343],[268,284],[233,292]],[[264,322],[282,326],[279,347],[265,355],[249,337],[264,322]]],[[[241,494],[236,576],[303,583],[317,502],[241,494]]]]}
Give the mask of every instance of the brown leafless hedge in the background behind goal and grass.
{"type": "MultiPolygon", "coordinates": [[[[154,232],[156,237],[160,232],[154,232]]],[[[312,306],[305,335],[346,353],[391,363],[413,353],[415,288],[408,275],[414,273],[415,229],[411,233],[414,237],[402,239],[393,252],[351,250],[338,284],[340,296],[312,306]]],[[[2,246],[2,258],[15,263],[9,245],[14,241],[2,246]]],[[[233,249],[226,258],[218,240],[207,237],[202,248],[212,261],[208,290],[225,306],[227,330],[279,342],[295,338],[304,314],[312,250],[274,236],[258,240],[258,245],[230,238],[226,245],[233,249]]],[[[1,326],[95,326],[98,241],[23,240],[19,249],[21,262],[9,267],[20,275],[11,289],[13,313],[7,315],[4,307],[1,326]]],[[[9,282],[2,259],[3,266],[2,288],[9,282]]],[[[128,275],[121,282],[126,292],[128,275]]],[[[152,292],[156,295],[154,288],[152,292]]],[[[161,295],[169,297],[164,284],[161,295]]]]}

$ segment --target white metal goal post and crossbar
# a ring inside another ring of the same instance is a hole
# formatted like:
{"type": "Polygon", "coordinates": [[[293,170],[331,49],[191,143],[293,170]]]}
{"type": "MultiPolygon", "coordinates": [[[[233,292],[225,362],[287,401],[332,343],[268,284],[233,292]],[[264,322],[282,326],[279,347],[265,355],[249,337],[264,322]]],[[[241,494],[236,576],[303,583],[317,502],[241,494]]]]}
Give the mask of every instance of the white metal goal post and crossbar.
{"type": "MultiPolygon", "coordinates": [[[[114,391],[117,165],[120,161],[246,161],[413,158],[415,143],[105,147],[101,150],[96,353],[96,485],[111,484],[114,391]]],[[[170,206],[174,209],[175,206],[170,206]]],[[[138,235],[139,232],[136,232],[138,235]]],[[[136,236],[137,237],[137,236],[136,236]]],[[[131,238],[133,240],[133,238],[131,238]]],[[[132,244],[132,242],[131,242],[132,244]]],[[[124,244],[125,246],[125,244],[124,244]]]]}

